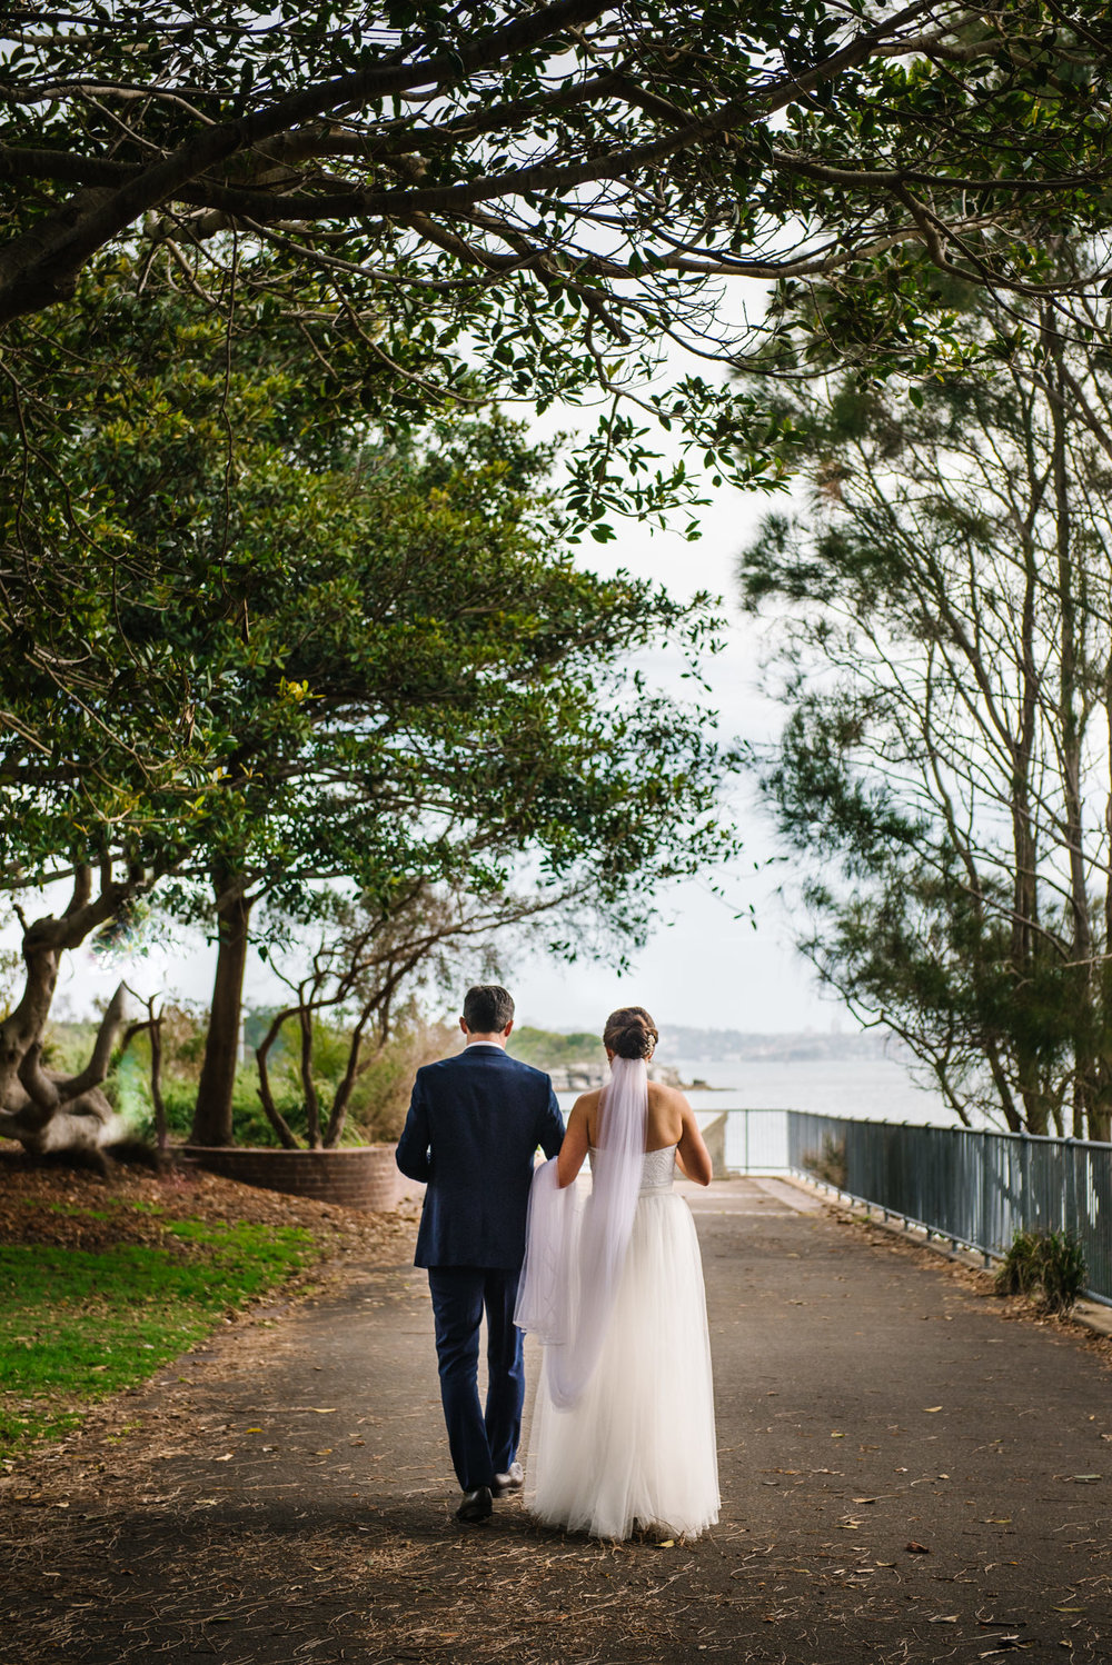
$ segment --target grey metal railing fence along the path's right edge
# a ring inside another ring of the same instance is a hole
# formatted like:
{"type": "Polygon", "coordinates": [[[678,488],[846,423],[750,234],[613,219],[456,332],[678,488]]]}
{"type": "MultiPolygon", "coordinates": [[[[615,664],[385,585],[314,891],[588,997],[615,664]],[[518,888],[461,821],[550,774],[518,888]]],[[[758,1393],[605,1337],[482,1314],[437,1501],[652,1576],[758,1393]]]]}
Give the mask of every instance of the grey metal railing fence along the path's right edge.
{"type": "Polygon", "coordinates": [[[794,1172],[975,1249],[985,1264],[1017,1230],[1072,1230],[1085,1294],[1112,1305],[1112,1144],[787,1111],[787,1152],[794,1172]]]}

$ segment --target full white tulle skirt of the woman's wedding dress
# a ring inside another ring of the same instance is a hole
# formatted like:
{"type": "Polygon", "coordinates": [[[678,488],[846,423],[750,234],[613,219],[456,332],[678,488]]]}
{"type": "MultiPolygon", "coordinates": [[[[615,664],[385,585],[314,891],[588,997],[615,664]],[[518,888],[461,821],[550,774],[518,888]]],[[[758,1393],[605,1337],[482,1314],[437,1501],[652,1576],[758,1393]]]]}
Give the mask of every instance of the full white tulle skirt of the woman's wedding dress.
{"type": "Polygon", "coordinates": [[[628,1538],[696,1537],[717,1520],[717,1452],[702,1260],[671,1190],[638,1212],[599,1362],[571,1410],[538,1384],[526,1503],[546,1525],[628,1538]]]}

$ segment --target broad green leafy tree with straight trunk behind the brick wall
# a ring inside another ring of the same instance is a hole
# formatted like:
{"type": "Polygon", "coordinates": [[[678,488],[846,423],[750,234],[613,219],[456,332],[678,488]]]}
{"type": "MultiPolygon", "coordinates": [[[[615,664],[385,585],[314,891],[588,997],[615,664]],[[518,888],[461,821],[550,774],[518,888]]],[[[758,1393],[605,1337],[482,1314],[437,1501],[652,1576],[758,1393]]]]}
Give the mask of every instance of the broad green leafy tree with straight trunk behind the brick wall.
{"type": "MultiPolygon", "coordinates": [[[[80,411],[28,485],[72,581],[68,609],[48,589],[28,616],[55,606],[50,656],[80,659],[85,696],[0,671],[28,723],[48,713],[37,748],[8,729],[2,837],[20,882],[52,859],[123,866],[97,924],[160,879],[181,909],[203,886],[220,954],[195,1137],[225,1142],[261,896],[305,907],[350,877],[390,916],[418,882],[496,894],[528,852],[543,894],[589,889],[608,934],[636,937],[656,877],[729,847],[731,756],[628,674],[712,626],[706,598],[576,569],[549,456],[504,421],[388,443],[345,428],[281,338],[118,286],[88,305],[115,355],[73,380],[80,411]],[[60,496],[95,504],[93,554],[60,496]]],[[[88,360],[80,325],[63,360],[88,360]]]]}

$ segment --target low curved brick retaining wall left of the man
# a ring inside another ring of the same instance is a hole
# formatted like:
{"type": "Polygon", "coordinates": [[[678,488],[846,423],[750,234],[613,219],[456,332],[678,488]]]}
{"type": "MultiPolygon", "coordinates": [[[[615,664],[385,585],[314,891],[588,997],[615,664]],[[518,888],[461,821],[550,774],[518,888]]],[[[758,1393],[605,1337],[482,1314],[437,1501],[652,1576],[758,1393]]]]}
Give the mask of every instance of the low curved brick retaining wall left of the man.
{"type": "Polygon", "coordinates": [[[395,1209],[403,1180],[393,1146],[355,1146],[341,1151],[271,1151],[238,1146],[183,1146],[181,1156],[223,1179],[263,1190],[283,1190],[316,1202],[338,1202],[345,1209],[373,1214],[395,1209]]]}

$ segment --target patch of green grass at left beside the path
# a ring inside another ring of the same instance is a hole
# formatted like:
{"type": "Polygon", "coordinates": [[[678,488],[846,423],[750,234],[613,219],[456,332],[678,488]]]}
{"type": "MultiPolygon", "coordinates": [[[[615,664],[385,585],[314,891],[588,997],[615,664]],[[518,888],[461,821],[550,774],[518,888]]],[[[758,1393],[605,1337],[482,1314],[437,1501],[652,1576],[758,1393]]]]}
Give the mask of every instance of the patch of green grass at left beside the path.
{"type": "Polygon", "coordinates": [[[165,1230],[166,1247],[0,1244],[0,1447],[73,1427],[88,1404],[143,1382],[321,1252],[291,1225],[165,1230]]]}

